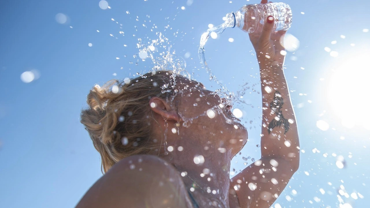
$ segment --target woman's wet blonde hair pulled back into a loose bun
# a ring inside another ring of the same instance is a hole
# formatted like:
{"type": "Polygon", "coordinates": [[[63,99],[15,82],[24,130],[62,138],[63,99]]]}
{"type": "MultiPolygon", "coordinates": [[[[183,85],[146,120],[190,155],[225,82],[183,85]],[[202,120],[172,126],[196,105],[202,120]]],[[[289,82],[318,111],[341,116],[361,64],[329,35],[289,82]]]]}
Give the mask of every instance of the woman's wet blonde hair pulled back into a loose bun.
{"type": "Polygon", "coordinates": [[[132,80],[111,80],[90,90],[81,123],[100,153],[103,174],[125,157],[151,151],[149,99],[174,96],[172,73],[153,71],[132,80]]]}

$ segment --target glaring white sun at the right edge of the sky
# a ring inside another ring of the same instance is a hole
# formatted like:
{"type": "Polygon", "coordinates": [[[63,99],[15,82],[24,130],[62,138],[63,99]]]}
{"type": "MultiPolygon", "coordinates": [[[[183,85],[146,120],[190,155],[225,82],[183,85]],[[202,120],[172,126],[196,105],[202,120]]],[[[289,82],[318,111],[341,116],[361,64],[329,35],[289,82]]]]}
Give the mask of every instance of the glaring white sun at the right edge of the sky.
{"type": "Polygon", "coordinates": [[[339,62],[327,87],[330,110],[344,127],[370,130],[370,53],[357,52],[339,62]]]}

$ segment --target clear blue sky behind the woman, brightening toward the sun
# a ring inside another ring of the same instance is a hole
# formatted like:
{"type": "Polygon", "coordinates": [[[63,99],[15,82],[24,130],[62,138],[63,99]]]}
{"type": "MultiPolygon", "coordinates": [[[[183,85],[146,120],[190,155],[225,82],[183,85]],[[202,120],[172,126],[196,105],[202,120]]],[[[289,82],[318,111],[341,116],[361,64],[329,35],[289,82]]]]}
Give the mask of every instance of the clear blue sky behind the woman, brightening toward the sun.
{"type": "MultiPolygon", "coordinates": [[[[199,63],[201,34],[208,24],[221,24],[226,13],[243,4],[259,3],[107,1],[111,9],[105,10],[99,0],[1,1],[3,207],[74,207],[101,177],[99,154],[80,124],[80,111],[94,84],[151,70],[150,58],[142,61],[137,56],[138,38],[147,43],[162,33],[167,47],[158,51],[170,48],[193,78],[215,90],[218,86],[209,81],[199,63]],[[64,17],[67,21],[61,24],[64,17]],[[39,77],[25,83],[20,77],[26,71],[39,77]]],[[[285,75],[302,154],[299,170],[276,203],[281,207],[365,207],[370,197],[370,3],[285,2],[293,10],[289,33],[300,43],[287,54],[285,75]]],[[[230,90],[239,91],[249,83],[244,96],[249,105],[234,106],[243,111],[250,139],[232,161],[231,171],[237,173],[245,167],[243,162],[250,164],[243,157],[260,157],[256,145],[261,98],[252,90],[260,90],[256,57],[248,34],[237,28],[225,30],[205,48],[209,67],[230,90]]]]}

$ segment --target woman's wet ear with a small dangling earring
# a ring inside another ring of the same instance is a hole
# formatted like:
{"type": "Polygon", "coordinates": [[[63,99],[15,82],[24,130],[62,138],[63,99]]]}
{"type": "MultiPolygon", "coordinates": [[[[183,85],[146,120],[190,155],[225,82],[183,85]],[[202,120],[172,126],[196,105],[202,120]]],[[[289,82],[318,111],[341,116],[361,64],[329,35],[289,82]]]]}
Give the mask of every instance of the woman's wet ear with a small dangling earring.
{"type": "Polygon", "coordinates": [[[176,122],[180,121],[178,113],[175,110],[172,110],[171,106],[162,98],[150,98],[149,106],[154,113],[161,115],[163,118],[167,118],[168,120],[173,120],[176,122]]]}

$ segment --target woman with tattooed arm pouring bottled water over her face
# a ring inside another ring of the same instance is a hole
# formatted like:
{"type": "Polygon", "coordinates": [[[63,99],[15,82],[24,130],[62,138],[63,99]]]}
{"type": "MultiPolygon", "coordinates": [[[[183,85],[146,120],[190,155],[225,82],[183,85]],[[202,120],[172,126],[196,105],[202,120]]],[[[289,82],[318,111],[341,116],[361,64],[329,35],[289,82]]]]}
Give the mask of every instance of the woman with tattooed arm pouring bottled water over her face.
{"type": "Polygon", "coordinates": [[[226,99],[171,71],[95,85],[81,123],[105,175],[77,208],[270,207],[299,167],[283,34],[273,32],[273,17],[262,34],[250,34],[263,94],[262,157],[231,180],[231,159],[248,134],[226,99]]]}

